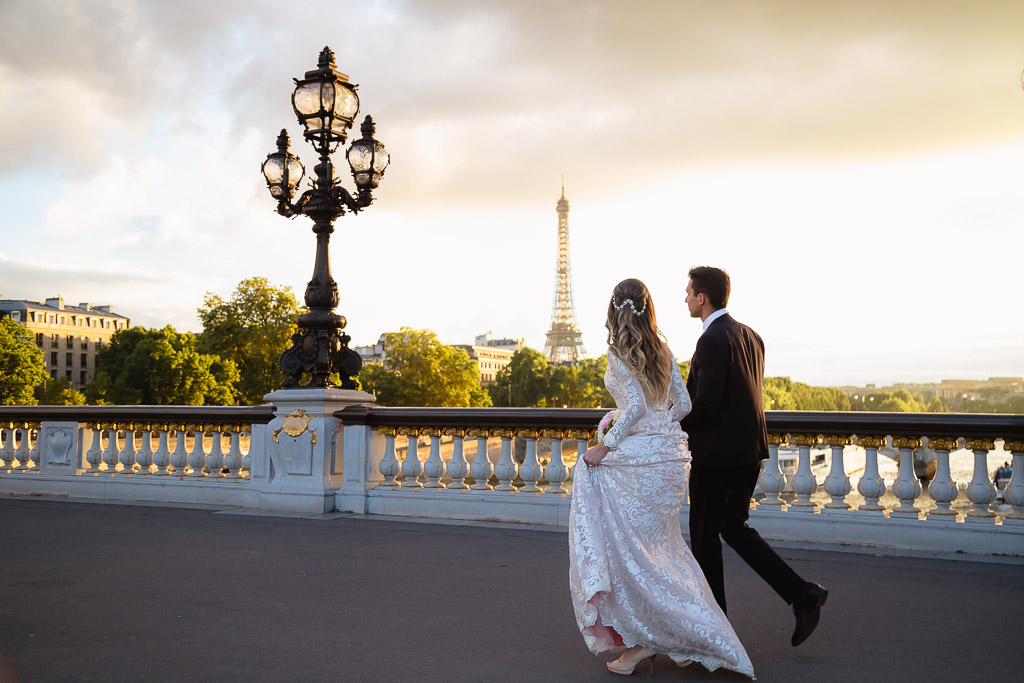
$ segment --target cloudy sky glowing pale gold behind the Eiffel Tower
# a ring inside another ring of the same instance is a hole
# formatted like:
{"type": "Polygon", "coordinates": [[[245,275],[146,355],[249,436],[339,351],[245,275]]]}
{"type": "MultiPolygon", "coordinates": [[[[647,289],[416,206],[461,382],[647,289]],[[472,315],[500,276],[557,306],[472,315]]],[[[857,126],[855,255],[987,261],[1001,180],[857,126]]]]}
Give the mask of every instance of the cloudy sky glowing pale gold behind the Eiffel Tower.
{"type": "Polygon", "coordinates": [[[355,344],[542,348],[564,174],[591,355],[635,276],[689,356],[708,263],[769,375],[1019,377],[1022,26],[986,0],[3,0],[0,296],[194,331],[248,276],[301,296],[310,222],[259,166],[330,45],[392,156],[332,243],[355,344]]]}

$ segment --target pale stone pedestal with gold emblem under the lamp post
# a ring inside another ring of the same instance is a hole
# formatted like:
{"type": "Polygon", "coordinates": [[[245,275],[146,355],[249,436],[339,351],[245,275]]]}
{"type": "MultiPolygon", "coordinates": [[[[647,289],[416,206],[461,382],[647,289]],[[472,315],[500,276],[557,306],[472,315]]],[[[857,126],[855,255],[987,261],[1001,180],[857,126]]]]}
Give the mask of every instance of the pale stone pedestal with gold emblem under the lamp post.
{"type": "Polygon", "coordinates": [[[342,486],[343,442],[336,411],[372,403],[374,396],[344,389],[280,389],[263,397],[274,419],[263,436],[266,467],[253,464],[260,508],[325,513],[342,486]]]}

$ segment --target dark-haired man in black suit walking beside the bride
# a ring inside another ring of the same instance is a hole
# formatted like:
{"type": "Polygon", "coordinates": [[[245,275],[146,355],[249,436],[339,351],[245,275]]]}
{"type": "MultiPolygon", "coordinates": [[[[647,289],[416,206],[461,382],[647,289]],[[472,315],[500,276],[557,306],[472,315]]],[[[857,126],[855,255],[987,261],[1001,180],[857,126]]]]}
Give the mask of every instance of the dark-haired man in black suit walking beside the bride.
{"type": "Polygon", "coordinates": [[[818,625],[828,597],[823,587],[804,581],[746,525],[751,495],[768,457],[765,428],[764,342],[732,319],[729,274],[720,268],[690,268],[686,306],[703,322],[690,360],[686,389],[693,410],[680,423],[689,434],[690,544],[712,593],[725,611],[722,543],[736,551],[771,588],[793,605],[797,628],[791,642],[804,642],[818,625]]]}

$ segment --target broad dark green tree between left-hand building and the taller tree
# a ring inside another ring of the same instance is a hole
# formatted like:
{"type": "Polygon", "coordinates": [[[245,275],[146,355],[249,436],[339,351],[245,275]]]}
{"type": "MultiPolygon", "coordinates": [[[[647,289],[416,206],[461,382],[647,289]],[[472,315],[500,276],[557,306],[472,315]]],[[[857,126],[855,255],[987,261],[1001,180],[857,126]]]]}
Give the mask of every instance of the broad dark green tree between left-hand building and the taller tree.
{"type": "Polygon", "coordinates": [[[146,405],[228,405],[236,400],[238,368],[200,353],[195,335],[163,330],[119,330],[96,354],[89,402],[146,405]]]}

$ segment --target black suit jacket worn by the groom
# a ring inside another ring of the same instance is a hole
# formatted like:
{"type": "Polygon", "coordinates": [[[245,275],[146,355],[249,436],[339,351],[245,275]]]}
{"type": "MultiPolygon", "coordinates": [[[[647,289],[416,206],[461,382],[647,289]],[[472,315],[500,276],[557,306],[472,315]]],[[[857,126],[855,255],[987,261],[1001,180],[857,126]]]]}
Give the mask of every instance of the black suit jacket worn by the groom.
{"type": "Polygon", "coordinates": [[[693,410],[680,424],[694,469],[755,465],[768,457],[764,398],[765,345],[726,313],[697,340],[686,389],[693,410]]]}

